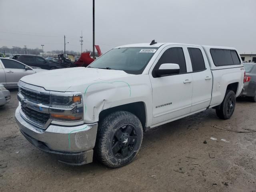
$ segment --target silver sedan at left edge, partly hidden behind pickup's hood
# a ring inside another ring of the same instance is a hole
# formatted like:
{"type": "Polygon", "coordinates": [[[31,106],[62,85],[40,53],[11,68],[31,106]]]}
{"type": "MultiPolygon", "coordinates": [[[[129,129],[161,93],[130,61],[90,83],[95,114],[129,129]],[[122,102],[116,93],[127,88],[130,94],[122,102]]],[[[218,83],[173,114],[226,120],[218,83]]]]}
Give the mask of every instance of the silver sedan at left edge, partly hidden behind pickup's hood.
{"type": "Polygon", "coordinates": [[[18,81],[22,77],[41,71],[45,70],[32,68],[17,60],[0,58],[0,84],[6,88],[18,88],[18,81]]]}

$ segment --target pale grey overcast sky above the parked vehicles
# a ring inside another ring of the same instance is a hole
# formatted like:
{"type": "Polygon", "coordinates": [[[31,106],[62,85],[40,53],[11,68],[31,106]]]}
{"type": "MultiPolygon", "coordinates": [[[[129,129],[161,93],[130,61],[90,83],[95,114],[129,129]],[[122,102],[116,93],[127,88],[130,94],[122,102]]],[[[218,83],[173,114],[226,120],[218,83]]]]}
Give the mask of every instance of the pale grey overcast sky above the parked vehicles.
{"type": "MultiPolygon", "coordinates": [[[[178,42],[256,53],[256,0],[95,0],[95,42],[178,42]]],[[[0,0],[0,47],[92,50],[92,0],[0,0]]]]}

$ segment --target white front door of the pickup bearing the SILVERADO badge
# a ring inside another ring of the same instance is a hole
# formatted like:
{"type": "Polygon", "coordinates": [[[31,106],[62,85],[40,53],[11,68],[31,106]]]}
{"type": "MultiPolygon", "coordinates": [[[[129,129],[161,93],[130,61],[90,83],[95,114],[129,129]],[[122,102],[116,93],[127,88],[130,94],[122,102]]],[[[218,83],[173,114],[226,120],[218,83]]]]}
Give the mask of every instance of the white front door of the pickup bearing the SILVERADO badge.
{"type": "Polygon", "coordinates": [[[166,46],[150,70],[153,100],[153,125],[169,122],[190,113],[192,106],[192,74],[184,46],[166,46]],[[185,54],[184,54],[185,53],[185,54]],[[161,64],[180,66],[180,73],[157,77],[154,69],[161,64]]]}

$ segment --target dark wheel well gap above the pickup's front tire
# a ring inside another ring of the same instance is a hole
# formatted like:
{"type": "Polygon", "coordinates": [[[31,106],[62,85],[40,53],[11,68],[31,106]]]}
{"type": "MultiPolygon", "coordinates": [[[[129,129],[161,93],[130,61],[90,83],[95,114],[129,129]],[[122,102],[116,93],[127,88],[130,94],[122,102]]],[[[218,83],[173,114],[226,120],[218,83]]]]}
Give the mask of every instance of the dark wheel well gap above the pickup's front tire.
{"type": "Polygon", "coordinates": [[[112,107],[100,112],[99,120],[102,120],[105,116],[116,111],[128,111],[136,115],[144,128],[146,125],[146,108],[144,102],[134,102],[124,104],[116,107],[112,107]]]}

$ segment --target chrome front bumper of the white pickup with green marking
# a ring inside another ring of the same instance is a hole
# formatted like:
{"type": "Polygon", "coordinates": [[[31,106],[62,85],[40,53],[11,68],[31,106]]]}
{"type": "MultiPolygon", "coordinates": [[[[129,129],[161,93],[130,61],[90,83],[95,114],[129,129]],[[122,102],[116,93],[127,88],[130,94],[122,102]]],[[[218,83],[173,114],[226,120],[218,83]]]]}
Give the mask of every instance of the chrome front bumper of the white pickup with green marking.
{"type": "Polygon", "coordinates": [[[15,118],[20,132],[38,149],[54,154],[60,162],[83,165],[92,162],[98,123],[79,126],[59,126],[50,124],[46,130],[26,121],[20,107],[15,118]]]}

